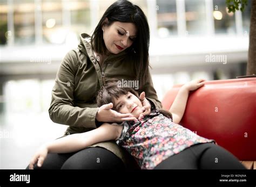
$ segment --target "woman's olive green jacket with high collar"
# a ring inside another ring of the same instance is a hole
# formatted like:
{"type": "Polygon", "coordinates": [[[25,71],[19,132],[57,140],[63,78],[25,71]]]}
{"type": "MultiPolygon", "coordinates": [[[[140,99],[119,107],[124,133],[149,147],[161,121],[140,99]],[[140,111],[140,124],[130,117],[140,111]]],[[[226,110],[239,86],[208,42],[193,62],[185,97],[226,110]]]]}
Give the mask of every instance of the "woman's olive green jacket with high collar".
{"type": "MultiPolygon", "coordinates": [[[[131,63],[125,59],[126,52],[110,55],[102,66],[93,54],[90,36],[80,35],[78,48],[64,57],[57,72],[49,115],[53,122],[69,125],[65,135],[82,133],[97,128],[96,104],[97,91],[109,80],[135,80],[132,76],[131,63]]],[[[156,90],[153,88],[151,75],[139,90],[145,91],[151,105],[161,108],[156,90]]],[[[127,164],[127,152],[114,141],[100,142],[93,145],[110,150],[127,164]]],[[[126,165],[127,166],[127,165],[126,165]]]]}

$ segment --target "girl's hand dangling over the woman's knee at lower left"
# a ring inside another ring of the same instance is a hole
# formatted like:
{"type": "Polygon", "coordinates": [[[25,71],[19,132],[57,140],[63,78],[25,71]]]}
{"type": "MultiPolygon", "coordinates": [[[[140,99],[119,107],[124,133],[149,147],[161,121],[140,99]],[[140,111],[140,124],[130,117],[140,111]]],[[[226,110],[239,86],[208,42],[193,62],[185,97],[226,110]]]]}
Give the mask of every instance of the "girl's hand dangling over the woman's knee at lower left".
{"type": "Polygon", "coordinates": [[[35,155],[33,155],[30,163],[29,169],[33,169],[34,164],[37,163],[38,167],[41,167],[44,163],[44,160],[48,154],[48,148],[46,146],[42,146],[35,155]]]}

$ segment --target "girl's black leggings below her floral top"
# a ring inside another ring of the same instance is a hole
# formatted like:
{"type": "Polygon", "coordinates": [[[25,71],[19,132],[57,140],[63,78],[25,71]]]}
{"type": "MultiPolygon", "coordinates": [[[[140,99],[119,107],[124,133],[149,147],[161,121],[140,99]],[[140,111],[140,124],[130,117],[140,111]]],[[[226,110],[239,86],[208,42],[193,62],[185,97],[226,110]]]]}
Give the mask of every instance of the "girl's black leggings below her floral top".
{"type": "Polygon", "coordinates": [[[214,143],[200,143],[170,156],[154,169],[246,169],[226,149],[214,143]]]}

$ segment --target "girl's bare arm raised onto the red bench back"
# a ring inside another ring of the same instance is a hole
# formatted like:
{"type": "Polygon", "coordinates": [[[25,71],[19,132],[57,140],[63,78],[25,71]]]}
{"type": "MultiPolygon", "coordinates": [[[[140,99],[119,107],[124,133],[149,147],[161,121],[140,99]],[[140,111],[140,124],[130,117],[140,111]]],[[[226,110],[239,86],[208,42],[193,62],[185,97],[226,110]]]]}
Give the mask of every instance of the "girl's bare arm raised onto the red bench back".
{"type": "Polygon", "coordinates": [[[172,113],[173,122],[178,124],[183,117],[183,114],[186,109],[187,98],[190,91],[196,90],[204,85],[204,80],[193,80],[184,84],[180,90],[176,98],[173,101],[173,104],[170,108],[170,112],[172,113]]]}

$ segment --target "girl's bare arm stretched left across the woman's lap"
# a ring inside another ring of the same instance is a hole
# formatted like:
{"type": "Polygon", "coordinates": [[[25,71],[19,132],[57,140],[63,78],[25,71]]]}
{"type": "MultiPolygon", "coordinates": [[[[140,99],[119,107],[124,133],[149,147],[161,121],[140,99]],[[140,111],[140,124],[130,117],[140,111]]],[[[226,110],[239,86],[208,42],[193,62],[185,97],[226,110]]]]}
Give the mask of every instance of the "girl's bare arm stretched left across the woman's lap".
{"type": "Polygon", "coordinates": [[[48,153],[70,153],[84,149],[98,142],[116,140],[122,132],[122,125],[102,124],[95,130],[85,133],[71,134],[63,138],[56,139],[43,145],[38,152],[33,155],[29,168],[37,163],[41,167],[48,153]]]}

